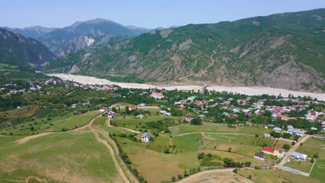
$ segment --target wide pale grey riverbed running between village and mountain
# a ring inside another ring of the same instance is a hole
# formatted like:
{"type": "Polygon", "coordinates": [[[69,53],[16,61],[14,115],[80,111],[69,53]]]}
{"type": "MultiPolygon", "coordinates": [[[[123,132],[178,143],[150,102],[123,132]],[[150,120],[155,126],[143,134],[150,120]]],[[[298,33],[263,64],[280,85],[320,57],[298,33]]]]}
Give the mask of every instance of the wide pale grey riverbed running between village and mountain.
{"type": "MultiPolygon", "coordinates": [[[[197,91],[198,89],[202,89],[202,86],[199,85],[149,85],[149,84],[139,84],[139,83],[129,83],[129,82],[112,82],[106,79],[95,78],[91,76],[79,76],[72,75],[66,73],[53,73],[48,74],[48,76],[56,76],[61,78],[62,80],[73,80],[75,82],[80,82],[83,85],[85,84],[98,84],[98,85],[119,85],[119,87],[124,88],[139,88],[139,89],[148,89],[148,88],[158,88],[158,89],[178,89],[178,90],[192,90],[197,91]]],[[[217,92],[228,91],[228,92],[237,92],[240,94],[247,95],[261,95],[261,94],[269,94],[278,96],[288,96],[289,94],[293,94],[294,96],[310,96],[312,98],[317,98],[318,100],[325,101],[325,94],[317,94],[313,92],[297,92],[288,89],[278,89],[272,87],[223,87],[223,86],[209,86],[206,89],[215,90],[217,92]]]]}

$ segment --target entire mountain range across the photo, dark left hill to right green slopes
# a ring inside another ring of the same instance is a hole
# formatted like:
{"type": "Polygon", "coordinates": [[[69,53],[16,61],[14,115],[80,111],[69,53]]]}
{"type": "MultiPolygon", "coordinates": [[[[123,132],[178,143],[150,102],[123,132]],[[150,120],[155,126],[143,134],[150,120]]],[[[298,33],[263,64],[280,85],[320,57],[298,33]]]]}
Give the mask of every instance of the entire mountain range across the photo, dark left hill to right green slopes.
{"type": "Polygon", "coordinates": [[[40,42],[1,29],[1,62],[123,82],[325,90],[324,8],[154,30],[107,19],[32,30],[40,42]]]}

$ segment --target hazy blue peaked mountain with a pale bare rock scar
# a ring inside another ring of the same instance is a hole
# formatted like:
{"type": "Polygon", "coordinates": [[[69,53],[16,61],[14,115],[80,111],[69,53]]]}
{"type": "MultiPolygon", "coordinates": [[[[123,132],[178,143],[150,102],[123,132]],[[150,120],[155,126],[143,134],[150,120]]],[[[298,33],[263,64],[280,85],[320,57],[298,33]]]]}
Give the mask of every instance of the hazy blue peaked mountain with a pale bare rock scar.
{"type": "Polygon", "coordinates": [[[40,37],[40,41],[47,45],[53,53],[61,56],[85,49],[97,42],[106,43],[108,37],[120,39],[133,37],[142,32],[144,30],[127,28],[108,19],[92,19],[76,21],[72,26],[65,28],[56,28],[40,37]],[[92,40],[92,44],[88,44],[88,40],[92,40]]]}

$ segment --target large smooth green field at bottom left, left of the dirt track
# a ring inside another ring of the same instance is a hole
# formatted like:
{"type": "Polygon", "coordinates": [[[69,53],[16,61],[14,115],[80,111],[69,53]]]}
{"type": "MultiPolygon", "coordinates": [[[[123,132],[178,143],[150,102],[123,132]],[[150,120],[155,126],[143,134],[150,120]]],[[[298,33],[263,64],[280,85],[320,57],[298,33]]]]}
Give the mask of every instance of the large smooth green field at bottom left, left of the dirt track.
{"type": "Polygon", "coordinates": [[[0,137],[1,182],[24,182],[29,176],[47,182],[121,182],[107,149],[88,129],[49,134],[27,143],[0,137]],[[78,167],[78,168],[76,168],[78,167]]]}

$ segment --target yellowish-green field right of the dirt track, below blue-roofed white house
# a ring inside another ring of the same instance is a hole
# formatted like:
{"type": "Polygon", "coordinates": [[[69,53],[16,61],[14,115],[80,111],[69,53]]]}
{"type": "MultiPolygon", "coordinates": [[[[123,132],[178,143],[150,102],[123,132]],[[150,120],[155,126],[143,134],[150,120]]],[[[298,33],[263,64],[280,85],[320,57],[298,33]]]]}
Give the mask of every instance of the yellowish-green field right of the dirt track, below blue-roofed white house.
{"type": "Polygon", "coordinates": [[[158,153],[146,148],[147,143],[136,143],[129,139],[117,138],[122,150],[131,159],[132,168],[137,168],[148,182],[170,180],[173,175],[183,175],[185,170],[200,166],[197,151],[178,154],[158,153]]]}

